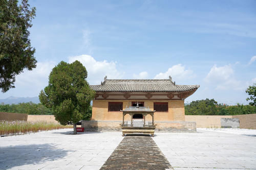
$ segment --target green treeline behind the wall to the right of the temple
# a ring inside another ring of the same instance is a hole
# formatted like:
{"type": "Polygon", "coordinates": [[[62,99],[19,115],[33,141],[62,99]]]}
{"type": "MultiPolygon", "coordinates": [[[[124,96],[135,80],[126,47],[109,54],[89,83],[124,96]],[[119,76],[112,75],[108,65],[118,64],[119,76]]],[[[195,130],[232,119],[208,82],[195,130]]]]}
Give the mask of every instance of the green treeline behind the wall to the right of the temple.
{"type": "Polygon", "coordinates": [[[186,115],[240,115],[256,113],[256,106],[240,105],[227,106],[218,104],[214,99],[193,101],[185,105],[186,115]]]}

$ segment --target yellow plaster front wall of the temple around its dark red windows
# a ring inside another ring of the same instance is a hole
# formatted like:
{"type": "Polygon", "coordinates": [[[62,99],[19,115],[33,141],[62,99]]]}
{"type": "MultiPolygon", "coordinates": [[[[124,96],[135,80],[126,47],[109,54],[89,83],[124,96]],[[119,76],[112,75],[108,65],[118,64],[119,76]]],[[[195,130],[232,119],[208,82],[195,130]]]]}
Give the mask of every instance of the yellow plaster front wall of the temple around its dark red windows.
{"type": "MultiPolygon", "coordinates": [[[[136,100],[94,100],[91,120],[122,120],[122,112],[109,112],[109,102],[123,102],[123,109],[132,106],[136,100]]],[[[164,100],[139,100],[144,102],[145,107],[154,109],[154,102],[168,102],[168,112],[155,112],[155,121],[185,121],[184,101],[164,101],[164,100]]],[[[125,120],[131,120],[131,116],[125,116],[125,120]]],[[[146,116],[147,121],[151,121],[150,115],[146,116]]]]}

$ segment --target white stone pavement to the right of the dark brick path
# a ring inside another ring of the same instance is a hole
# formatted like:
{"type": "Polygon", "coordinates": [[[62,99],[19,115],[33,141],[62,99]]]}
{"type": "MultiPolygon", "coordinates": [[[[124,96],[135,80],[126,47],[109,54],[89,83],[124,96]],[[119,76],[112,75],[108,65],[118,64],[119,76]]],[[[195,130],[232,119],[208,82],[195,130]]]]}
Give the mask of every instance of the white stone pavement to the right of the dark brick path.
{"type": "Polygon", "coordinates": [[[256,130],[197,129],[153,138],[175,170],[256,169],[256,130]]]}

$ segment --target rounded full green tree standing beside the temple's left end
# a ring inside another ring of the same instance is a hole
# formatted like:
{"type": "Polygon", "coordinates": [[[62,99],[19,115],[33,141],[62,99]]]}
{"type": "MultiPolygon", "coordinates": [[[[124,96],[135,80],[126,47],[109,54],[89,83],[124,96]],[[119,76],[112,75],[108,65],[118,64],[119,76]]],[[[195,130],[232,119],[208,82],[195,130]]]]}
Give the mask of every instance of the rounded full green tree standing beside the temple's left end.
{"type": "Polygon", "coordinates": [[[87,70],[79,61],[71,64],[61,61],[52,69],[49,85],[39,94],[40,102],[52,108],[55,119],[61,125],[76,123],[86,117],[95,92],[89,87],[87,70]]]}

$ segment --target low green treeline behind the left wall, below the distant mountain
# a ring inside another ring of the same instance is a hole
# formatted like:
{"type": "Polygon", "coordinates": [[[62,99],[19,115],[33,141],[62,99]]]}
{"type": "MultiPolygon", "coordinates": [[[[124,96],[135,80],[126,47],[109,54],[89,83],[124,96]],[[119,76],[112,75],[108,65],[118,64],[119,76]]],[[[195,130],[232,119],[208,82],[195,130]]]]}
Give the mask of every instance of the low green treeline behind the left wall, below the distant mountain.
{"type": "Polygon", "coordinates": [[[10,113],[26,113],[26,114],[53,114],[52,110],[45,107],[41,103],[35,104],[29,103],[19,103],[19,104],[0,104],[0,112],[10,112],[10,113]]]}

